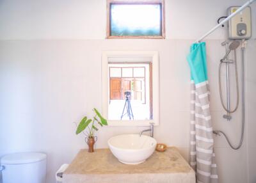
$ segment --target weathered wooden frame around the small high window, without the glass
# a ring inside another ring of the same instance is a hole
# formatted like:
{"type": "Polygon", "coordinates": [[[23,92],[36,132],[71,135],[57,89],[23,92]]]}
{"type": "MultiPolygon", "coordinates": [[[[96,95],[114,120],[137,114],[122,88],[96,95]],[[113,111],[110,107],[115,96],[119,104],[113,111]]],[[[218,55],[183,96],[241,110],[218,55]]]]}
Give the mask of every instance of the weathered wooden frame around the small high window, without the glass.
{"type": "Polygon", "coordinates": [[[107,1],[107,39],[164,39],[165,38],[165,0],[106,0],[107,1]],[[111,4],[161,4],[161,36],[111,36],[111,4]]]}

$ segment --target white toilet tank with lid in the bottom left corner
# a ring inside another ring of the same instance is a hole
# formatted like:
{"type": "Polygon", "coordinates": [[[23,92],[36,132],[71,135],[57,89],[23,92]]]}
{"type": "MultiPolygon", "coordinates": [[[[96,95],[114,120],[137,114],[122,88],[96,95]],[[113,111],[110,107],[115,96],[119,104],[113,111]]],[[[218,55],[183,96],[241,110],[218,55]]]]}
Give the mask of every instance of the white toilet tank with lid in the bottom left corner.
{"type": "Polygon", "coordinates": [[[45,183],[46,154],[22,152],[1,158],[3,183],[45,183]]]}

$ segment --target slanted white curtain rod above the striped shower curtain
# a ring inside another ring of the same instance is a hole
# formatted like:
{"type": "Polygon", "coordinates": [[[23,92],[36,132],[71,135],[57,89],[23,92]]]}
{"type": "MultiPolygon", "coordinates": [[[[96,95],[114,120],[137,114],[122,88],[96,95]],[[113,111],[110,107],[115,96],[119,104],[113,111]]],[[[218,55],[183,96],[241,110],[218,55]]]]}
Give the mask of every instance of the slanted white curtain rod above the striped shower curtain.
{"type": "Polygon", "coordinates": [[[210,35],[212,32],[214,32],[216,29],[220,28],[220,26],[222,24],[224,24],[225,22],[227,22],[228,20],[232,19],[232,17],[234,17],[237,13],[241,12],[244,8],[246,8],[247,6],[249,6],[250,4],[252,4],[253,2],[255,2],[256,0],[250,0],[247,1],[246,3],[243,4],[243,6],[241,6],[240,8],[238,8],[236,10],[236,12],[232,13],[231,15],[229,15],[226,19],[222,20],[220,22],[220,24],[218,24],[217,26],[215,26],[214,28],[212,28],[209,32],[207,32],[205,35],[203,35],[202,37],[200,37],[198,40],[196,40],[196,43],[201,42],[202,40],[204,40],[205,37],[207,37],[208,35],[210,35]]]}

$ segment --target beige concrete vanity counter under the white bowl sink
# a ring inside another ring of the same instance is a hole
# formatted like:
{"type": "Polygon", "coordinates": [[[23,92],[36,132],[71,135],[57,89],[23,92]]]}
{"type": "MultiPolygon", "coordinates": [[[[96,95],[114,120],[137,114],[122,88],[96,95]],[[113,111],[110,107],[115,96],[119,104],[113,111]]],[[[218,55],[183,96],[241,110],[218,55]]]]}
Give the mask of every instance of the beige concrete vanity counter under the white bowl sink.
{"type": "Polygon", "coordinates": [[[64,183],[195,183],[195,171],[175,147],[154,152],[147,161],[120,163],[109,149],[80,150],[63,174],[64,183]]]}

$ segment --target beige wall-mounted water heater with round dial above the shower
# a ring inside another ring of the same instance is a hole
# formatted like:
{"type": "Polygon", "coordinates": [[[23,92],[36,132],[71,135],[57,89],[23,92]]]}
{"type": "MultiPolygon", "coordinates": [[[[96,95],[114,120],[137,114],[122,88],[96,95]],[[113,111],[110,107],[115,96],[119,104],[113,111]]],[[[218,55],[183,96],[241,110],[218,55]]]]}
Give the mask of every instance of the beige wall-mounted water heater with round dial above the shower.
{"type": "MultiPolygon", "coordinates": [[[[228,8],[228,15],[236,12],[240,6],[228,8]]],[[[228,35],[230,39],[249,39],[252,36],[251,7],[244,10],[228,21],[228,35]]]]}

